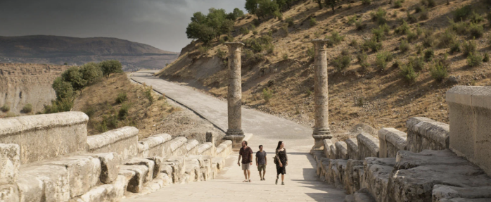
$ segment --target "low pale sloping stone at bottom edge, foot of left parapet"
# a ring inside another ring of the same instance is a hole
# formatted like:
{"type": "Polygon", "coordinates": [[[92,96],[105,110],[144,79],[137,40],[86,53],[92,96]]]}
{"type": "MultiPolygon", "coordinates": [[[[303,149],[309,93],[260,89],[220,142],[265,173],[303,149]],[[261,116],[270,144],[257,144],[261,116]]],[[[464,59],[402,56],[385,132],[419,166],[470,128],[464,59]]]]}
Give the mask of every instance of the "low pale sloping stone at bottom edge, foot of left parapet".
{"type": "Polygon", "coordinates": [[[112,184],[103,184],[87,191],[87,193],[73,198],[72,201],[77,202],[99,202],[99,201],[120,201],[120,198],[125,195],[127,184],[125,177],[118,176],[112,184]]]}

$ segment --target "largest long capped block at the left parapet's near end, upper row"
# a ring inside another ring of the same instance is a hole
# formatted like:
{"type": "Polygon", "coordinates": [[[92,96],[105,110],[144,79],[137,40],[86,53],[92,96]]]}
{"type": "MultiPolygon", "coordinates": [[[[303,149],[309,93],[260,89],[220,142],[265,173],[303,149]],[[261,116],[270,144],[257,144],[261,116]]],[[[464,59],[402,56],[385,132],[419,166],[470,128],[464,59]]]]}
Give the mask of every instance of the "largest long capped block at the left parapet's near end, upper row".
{"type": "Polygon", "coordinates": [[[82,112],[0,119],[0,143],[20,146],[20,163],[85,151],[87,122],[82,112]]]}

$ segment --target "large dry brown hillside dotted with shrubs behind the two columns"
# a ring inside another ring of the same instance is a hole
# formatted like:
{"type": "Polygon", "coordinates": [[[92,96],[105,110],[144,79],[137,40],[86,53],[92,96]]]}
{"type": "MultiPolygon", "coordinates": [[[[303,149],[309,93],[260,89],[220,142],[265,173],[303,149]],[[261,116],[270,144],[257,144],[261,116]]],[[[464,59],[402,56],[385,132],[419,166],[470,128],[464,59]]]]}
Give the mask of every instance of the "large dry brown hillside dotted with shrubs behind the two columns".
{"type": "MultiPolygon", "coordinates": [[[[242,51],[243,104],[312,127],[314,70],[309,56],[310,40],[327,37],[333,42],[327,53],[331,130],[342,132],[364,122],[375,128],[405,131],[406,120],[414,116],[448,122],[447,89],[457,84],[491,83],[490,63],[469,65],[466,56],[466,44],[476,44],[476,52],[471,50],[469,55],[484,56],[490,49],[491,22],[485,20],[488,4],[450,1],[447,5],[442,0],[388,2],[371,1],[364,5],[362,1],[340,1],[333,13],[331,8],[319,9],[315,1],[298,1],[283,12],[281,20],[271,18],[255,23],[254,15],[236,20],[234,41],[246,44],[242,51]],[[466,5],[470,6],[466,7],[464,23],[451,24],[449,19],[456,17],[455,11],[466,5]],[[477,15],[469,16],[470,11],[477,15]],[[383,16],[386,26],[379,25],[377,21],[381,20],[377,16],[383,16]],[[469,18],[477,18],[476,23],[469,23],[469,18]],[[408,27],[403,30],[404,22],[408,27]],[[472,26],[484,27],[480,32],[483,35],[475,41],[471,40],[471,35],[476,34],[472,26]],[[248,27],[250,32],[240,32],[241,27],[248,27]],[[381,43],[378,50],[371,46],[378,43],[372,41],[376,37],[381,43]],[[270,41],[274,49],[268,45],[269,49],[256,51],[252,39],[270,41]],[[461,50],[456,51],[454,46],[461,50]],[[360,62],[357,56],[363,53],[366,59],[362,57],[360,62]],[[377,61],[377,56],[383,58],[383,54],[392,59],[377,61]],[[343,60],[336,63],[338,57],[347,58],[348,64],[338,65],[343,63],[343,60]],[[432,77],[439,63],[447,72],[441,82],[432,77]],[[402,76],[409,66],[413,70],[409,72],[414,73],[409,78],[413,80],[402,76]],[[269,101],[262,99],[264,89],[272,92],[269,101]]],[[[177,61],[158,75],[225,98],[227,54],[223,52],[228,49],[222,42],[215,40],[208,47],[200,41],[192,42],[184,47],[177,61]]]]}

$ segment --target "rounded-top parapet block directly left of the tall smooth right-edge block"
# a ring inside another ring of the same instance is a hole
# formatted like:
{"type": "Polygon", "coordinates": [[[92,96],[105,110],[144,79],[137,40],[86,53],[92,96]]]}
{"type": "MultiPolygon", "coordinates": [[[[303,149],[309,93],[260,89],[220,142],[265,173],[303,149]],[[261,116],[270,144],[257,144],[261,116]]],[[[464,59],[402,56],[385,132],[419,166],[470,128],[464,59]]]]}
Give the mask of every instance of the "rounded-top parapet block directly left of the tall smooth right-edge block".
{"type": "Polygon", "coordinates": [[[407,150],[421,152],[424,149],[449,148],[449,125],[423,117],[409,118],[407,125],[407,150]]]}

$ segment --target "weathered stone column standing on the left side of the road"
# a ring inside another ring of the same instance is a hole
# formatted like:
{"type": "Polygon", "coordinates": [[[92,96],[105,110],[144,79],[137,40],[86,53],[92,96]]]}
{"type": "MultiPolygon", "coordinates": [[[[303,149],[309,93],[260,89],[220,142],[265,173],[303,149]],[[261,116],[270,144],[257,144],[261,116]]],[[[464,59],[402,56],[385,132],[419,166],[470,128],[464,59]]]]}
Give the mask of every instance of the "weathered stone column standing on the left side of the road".
{"type": "Polygon", "coordinates": [[[224,139],[232,141],[233,149],[240,149],[242,139],[242,79],[241,47],[242,43],[226,43],[229,46],[229,89],[227,93],[229,128],[224,139]]]}

